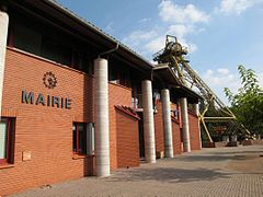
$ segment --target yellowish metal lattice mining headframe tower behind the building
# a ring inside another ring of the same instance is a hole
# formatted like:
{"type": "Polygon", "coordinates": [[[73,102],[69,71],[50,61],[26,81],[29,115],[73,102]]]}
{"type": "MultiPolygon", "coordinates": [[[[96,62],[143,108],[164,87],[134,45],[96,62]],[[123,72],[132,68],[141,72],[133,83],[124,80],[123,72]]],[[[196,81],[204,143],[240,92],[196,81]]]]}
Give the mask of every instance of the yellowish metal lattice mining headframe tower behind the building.
{"type": "Polygon", "coordinates": [[[178,43],[176,37],[167,35],[165,47],[153,55],[153,60],[158,63],[169,65],[181,84],[197,91],[203,96],[204,101],[199,109],[198,119],[209,141],[213,142],[213,139],[207,128],[207,123],[225,123],[227,125],[225,134],[237,134],[241,130],[243,134],[250,135],[242,125],[237,124],[235,114],[190,67],[188,61],[184,58],[186,54],[186,48],[178,43]],[[214,112],[213,116],[206,116],[208,109],[214,112]]]}

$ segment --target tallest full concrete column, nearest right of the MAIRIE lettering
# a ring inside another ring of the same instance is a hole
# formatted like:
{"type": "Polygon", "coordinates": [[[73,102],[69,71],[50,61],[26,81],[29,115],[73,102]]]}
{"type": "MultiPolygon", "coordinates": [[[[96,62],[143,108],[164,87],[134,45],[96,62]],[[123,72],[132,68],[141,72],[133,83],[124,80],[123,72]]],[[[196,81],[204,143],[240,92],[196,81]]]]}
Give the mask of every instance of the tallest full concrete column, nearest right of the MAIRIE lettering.
{"type": "Polygon", "coordinates": [[[110,175],[107,60],[94,60],[95,77],[95,175],[110,175]]]}

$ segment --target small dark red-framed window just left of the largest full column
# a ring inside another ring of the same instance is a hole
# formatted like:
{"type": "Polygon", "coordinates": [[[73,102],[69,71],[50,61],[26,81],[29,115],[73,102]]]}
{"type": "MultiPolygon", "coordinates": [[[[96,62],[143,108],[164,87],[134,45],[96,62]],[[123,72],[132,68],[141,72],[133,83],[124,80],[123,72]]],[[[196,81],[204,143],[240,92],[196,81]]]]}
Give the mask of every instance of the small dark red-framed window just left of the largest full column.
{"type": "Polygon", "coordinates": [[[73,152],[76,154],[87,154],[87,124],[73,123],[73,152]]]}

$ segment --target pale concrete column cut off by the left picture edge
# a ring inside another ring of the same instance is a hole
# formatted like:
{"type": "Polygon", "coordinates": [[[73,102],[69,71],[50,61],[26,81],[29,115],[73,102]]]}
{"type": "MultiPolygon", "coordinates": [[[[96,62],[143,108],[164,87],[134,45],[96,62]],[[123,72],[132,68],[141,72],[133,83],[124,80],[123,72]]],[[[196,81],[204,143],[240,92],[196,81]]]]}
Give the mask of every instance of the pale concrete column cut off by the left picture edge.
{"type": "Polygon", "coordinates": [[[3,74],[8,39],[9,15],[0,11],[0,117],[2,114],[3,74]]]}

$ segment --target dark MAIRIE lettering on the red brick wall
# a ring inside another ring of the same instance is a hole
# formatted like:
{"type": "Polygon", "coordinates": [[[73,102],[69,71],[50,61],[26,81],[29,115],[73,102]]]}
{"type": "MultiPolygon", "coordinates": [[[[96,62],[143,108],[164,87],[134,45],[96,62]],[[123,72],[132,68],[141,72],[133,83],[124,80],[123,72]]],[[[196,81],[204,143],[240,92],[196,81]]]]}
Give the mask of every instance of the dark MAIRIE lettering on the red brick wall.
{"type": "Polygon", "coordinates": [[[54,95],[44,95],[42,93],[22,91],[22,103],[32,105],[52,106],[57,108],[71,108],[71,100],[68,97],[59,97],[54,95]]]}

